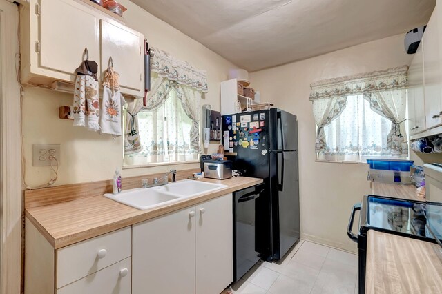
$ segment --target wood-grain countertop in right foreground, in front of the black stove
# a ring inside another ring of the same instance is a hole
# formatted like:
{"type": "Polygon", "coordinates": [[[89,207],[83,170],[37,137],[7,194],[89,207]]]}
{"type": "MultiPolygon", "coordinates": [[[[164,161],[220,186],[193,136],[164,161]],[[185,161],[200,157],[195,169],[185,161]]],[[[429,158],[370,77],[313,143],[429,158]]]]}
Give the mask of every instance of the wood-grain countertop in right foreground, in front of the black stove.
{"type": "Polygon", "coordinates": [[[368,231],[365,293],[442,293],[437,244],[368,231]]]}

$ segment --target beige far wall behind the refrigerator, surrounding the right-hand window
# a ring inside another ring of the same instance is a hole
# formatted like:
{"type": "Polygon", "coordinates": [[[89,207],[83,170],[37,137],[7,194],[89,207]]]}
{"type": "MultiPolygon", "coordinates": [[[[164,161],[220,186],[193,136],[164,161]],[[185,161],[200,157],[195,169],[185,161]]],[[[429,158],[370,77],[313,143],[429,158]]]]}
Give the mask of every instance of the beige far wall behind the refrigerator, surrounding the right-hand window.
{"type": "Polygon", "coordinates": [[[262,101],[298,116],[302,238],[356,252],[347,222],[353,204],[369,193],[366,164],[315,161],[311,82],[409,65],[412,57],[397,35],[251,74],[262,101]]]}

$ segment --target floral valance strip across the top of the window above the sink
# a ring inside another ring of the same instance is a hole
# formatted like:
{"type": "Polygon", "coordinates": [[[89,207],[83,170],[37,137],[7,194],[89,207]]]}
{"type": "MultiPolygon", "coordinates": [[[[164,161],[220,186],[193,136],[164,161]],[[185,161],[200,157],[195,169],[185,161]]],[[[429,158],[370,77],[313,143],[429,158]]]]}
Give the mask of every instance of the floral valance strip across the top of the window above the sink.
{"type": "Polygon", "coordinates": [[[201,92],[208,92],[207,74],[205,70],[198,70],[186,61],[180,61],[163,50],[153,48],[151,71],[159,77],[166,77],[169,81],[177,81],[178,84],[189,86],[201,92]]]}

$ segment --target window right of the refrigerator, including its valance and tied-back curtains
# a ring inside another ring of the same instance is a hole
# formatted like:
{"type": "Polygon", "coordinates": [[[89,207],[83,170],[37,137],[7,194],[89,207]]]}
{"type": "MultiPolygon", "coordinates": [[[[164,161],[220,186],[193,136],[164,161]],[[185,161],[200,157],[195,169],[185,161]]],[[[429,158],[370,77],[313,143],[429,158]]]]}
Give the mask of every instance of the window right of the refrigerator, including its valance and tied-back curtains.
{"type": "Polygon", "coordinates": [[[311,83],[316,159],[408,157],[407,66],[311,83]]]}

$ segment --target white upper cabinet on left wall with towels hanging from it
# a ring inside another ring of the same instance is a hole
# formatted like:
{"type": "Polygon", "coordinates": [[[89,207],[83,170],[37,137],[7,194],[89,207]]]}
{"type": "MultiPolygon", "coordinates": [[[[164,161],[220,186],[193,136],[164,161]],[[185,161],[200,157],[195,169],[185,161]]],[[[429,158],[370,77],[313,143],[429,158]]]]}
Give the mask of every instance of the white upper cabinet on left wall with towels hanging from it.
{"type": "MultiPolygon", "coordinates": [[[[99,80],[109,57],[120,75],[121,92],[144,96],[144,35],[86,3],[30,0],[21,6],[21,84],[74,84],[86,58],[98,64],[99,80]]],[[[99,83],[101,84],[101,82],[99,83]]]]}

